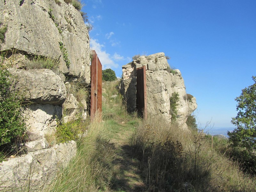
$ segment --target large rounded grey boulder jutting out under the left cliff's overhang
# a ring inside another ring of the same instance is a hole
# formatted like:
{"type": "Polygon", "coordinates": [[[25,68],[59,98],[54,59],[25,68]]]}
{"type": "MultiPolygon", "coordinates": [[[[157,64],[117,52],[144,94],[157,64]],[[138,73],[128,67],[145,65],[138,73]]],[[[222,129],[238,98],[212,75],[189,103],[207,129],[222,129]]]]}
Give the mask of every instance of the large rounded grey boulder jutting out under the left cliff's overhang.
{"type": "Polygon", "coordinates": [[[66,99],[66,87],[50,69],[9,69],[16,79],[18,89],[26,102],[62,105],[66,99]]]}

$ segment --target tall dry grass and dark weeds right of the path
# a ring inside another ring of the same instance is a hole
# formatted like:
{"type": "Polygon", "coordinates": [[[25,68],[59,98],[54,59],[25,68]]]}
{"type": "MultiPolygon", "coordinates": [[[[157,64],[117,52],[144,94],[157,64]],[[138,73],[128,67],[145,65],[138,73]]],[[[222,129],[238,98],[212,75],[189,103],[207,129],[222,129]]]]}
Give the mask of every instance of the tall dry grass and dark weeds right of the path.
{"type": "Polygon", "coordinates": [[[255,178],[211,149],[204,134],[149,118],[135,132],[134,155],[148,191],[255,191],[255,178]]]}

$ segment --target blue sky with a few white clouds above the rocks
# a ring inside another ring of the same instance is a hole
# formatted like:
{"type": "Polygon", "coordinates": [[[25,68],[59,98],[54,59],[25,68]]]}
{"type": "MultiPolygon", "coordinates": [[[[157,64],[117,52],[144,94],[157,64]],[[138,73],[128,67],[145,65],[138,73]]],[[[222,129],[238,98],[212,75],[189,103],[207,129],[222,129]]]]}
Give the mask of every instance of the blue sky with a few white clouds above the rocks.
{"type": "MultiPolygon", "coordinates": [[[[236,101],[256,75],[256,1],[82,0],[90,45],[122,76],[136,54],[164,52],[196,97],[197,122],[234,127],[236,101]]],[[[213,127],[213,128],[214,128],[213,127]]]]}

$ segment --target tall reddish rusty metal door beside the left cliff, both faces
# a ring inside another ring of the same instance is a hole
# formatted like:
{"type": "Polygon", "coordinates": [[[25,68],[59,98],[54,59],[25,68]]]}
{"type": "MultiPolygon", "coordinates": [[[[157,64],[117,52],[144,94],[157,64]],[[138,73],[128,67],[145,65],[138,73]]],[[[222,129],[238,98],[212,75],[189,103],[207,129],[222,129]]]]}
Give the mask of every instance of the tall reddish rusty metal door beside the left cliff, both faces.
{"type": "Polygon", "coordinates": [[[102,65],[97,53],[93,50],[91,64],[91,120],[98,110],[100,119],[102,112],[102,65]]]}

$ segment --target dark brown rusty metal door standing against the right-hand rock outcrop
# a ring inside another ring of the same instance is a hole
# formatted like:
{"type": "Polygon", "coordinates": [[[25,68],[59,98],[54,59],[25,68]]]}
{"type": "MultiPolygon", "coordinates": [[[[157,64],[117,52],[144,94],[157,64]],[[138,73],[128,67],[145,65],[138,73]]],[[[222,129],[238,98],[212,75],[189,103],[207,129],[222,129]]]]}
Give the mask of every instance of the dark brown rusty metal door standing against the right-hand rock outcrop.
{"type": "Polygon", "coordinates": [[[137,86],[136,86],[136,109],[138,115],[147,119],[147,87],[146,87],[146,66],[137,68],[137,86]]]}

